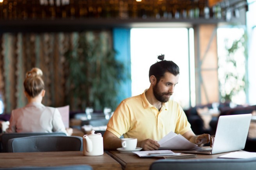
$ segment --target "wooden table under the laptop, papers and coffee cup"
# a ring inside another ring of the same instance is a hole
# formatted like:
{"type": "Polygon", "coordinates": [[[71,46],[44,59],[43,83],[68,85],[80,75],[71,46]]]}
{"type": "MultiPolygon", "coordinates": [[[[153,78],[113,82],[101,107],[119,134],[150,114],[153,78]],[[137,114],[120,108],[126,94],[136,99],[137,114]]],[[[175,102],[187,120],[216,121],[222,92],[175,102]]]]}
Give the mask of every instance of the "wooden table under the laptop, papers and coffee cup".
{"type": "MultiPolygon", "coordinates": [[[[123,170],[132,170],[132,169],[149,170],[149,166],[154,161],[160,159],[156,157],[141,158],[134,153],[120,153],[119,151],[106,151],[106,152],[121,164],[123,170]]],[[[180,151],[174,151],[174,152],[180,152],[180,151]]],[[[213,154],[213,155],[197,154],[197,158],[189,158],[189,159],[215,159],[223,154],[227,154],[227,153],[213,154]]]]}

